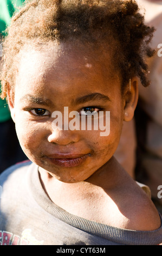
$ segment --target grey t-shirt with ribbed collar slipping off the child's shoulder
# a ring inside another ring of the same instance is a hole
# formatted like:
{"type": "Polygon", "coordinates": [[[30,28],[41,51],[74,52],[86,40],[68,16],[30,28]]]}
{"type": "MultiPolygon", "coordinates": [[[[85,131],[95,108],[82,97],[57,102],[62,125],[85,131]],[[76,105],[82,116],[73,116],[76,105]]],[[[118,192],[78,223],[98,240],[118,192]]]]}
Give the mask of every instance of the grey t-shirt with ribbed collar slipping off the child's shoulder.
{"type": "Polygon", "coordinates": [[[158,245],[162,241],[162,226],[154,231],[127,230],[69,214],[44,192],[34,163],[5,170],[0,186],[0,245],[158,245]]]}

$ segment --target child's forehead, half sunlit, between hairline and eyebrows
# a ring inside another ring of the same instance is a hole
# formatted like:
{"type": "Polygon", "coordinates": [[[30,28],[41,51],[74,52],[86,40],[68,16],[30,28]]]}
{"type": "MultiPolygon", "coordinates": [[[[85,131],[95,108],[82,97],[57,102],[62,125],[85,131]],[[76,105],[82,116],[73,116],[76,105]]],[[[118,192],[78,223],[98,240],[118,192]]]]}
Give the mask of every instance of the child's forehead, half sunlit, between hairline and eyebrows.
{"type": "Polygon", "coordinates": [[[119,77],[111,65],[111,54],[103,48],[70,43],[28,46],[21,52],[16,85],[38,85],[50,78],[57,78],[57,82],[74,81],[83,76],[105,82],[119,77]]]}

